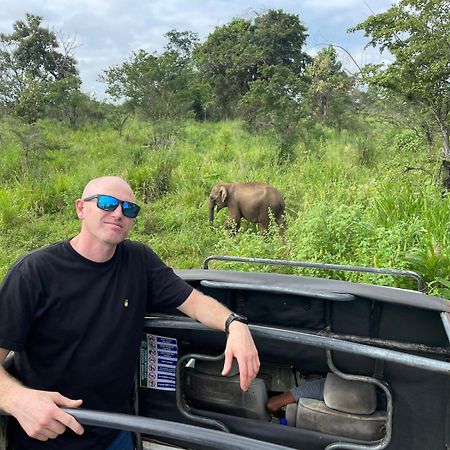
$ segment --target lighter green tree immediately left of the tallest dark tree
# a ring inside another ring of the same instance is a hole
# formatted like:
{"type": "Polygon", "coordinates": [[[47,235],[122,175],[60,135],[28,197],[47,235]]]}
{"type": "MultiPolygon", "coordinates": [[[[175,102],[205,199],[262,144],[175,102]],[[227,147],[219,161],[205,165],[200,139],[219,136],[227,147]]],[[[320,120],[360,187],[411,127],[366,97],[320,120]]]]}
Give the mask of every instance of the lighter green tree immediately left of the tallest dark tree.
{"type": "Polygon", "coordinates": [[[117,101],[153,119],[179,117],[194,109],[196,92],[190,58],[195,33],[171,30],[161,55],[139,50],[129,61],[106,70],[101,79],[117,101]]]}

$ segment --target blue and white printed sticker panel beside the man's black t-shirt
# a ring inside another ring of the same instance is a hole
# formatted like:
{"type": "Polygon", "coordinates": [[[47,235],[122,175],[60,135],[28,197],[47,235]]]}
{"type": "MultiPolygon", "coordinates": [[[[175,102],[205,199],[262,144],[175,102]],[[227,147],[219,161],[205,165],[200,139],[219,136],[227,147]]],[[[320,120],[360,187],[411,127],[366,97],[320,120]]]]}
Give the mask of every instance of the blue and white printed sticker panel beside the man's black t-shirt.
{"type": "Polygon", "coordinates": [[[178,344],[175,338],[144,334],[141,342],[141,387],[175,391],[178,344]]]}

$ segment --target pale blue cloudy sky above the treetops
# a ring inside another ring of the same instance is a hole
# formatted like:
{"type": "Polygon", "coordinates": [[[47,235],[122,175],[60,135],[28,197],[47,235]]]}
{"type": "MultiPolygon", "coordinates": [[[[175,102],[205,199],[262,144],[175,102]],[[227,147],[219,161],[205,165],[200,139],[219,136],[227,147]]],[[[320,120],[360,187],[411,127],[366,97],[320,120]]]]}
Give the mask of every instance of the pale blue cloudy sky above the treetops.
{"type": "MultiPolygon", "coordinates": [[[[365,49],[363,32],[348,28],[373,14],[386,11],[394,0],[0,0],[0,33],[9,34],[16,20],[29,12],[43,18],[42,25],[75,45],[74,56],[83,81],[82,90],[105,98],[103,71],[128,60],[143,49],[160,53],[172,29],[192,31],[200,42],[216,27],[233,18],[252,19],[269,9],[296,14],[308,30],[306,51],[314,55],[327,44],[343,47],[358,65],[388,61],[377,49],[365,49]]],[[[337,48],[344,67],[355,64],[337,48]]]]}

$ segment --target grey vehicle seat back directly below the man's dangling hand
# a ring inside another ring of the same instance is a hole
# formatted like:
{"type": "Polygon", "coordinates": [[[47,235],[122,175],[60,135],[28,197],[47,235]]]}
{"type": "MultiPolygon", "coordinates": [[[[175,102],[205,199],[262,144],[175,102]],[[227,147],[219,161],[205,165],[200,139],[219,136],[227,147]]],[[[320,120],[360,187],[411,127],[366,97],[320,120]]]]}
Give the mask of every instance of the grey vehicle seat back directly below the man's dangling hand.
{"type": "Polygon", "coordinates": [[[247,392],[241,390],[236,360],[228,374],[221,375],[223,361],[195,361],[195,367],[186,366],[185,394],[191,407],[247,417],[270,420],[266,409],[267,389],[264,381],[255,378],[247,392]]]}

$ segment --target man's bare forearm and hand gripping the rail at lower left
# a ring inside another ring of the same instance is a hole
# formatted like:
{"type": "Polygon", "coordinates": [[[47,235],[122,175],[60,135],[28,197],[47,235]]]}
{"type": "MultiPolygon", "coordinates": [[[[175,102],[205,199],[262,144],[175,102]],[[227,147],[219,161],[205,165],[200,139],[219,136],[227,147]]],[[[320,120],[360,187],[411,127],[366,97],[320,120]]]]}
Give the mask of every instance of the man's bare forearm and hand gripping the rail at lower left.
{"type": "Polygon", "coordinates": [[[9,350],[0,348],[0,410],[14,416],[28,436],[40,441],[54,439],[67,427],[77,434],[83,427],[59,406],[78,408],[82,400],[71,400],[58,392],[22,386],[2,367],[9,350]]]}

